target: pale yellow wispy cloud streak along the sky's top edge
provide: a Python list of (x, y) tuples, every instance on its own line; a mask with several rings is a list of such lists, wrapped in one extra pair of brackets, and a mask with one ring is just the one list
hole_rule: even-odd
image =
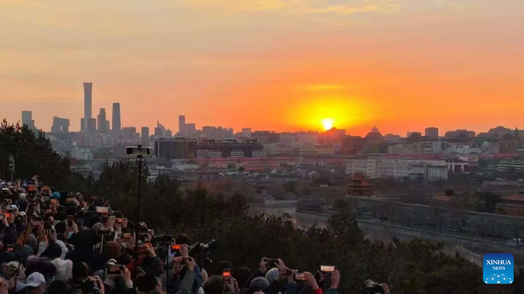
[(397, 0), (186, 0), (194, 9), (223, 11), (279, 11), (290, 14), (349, 15), (372, 11), (392, 11)]

